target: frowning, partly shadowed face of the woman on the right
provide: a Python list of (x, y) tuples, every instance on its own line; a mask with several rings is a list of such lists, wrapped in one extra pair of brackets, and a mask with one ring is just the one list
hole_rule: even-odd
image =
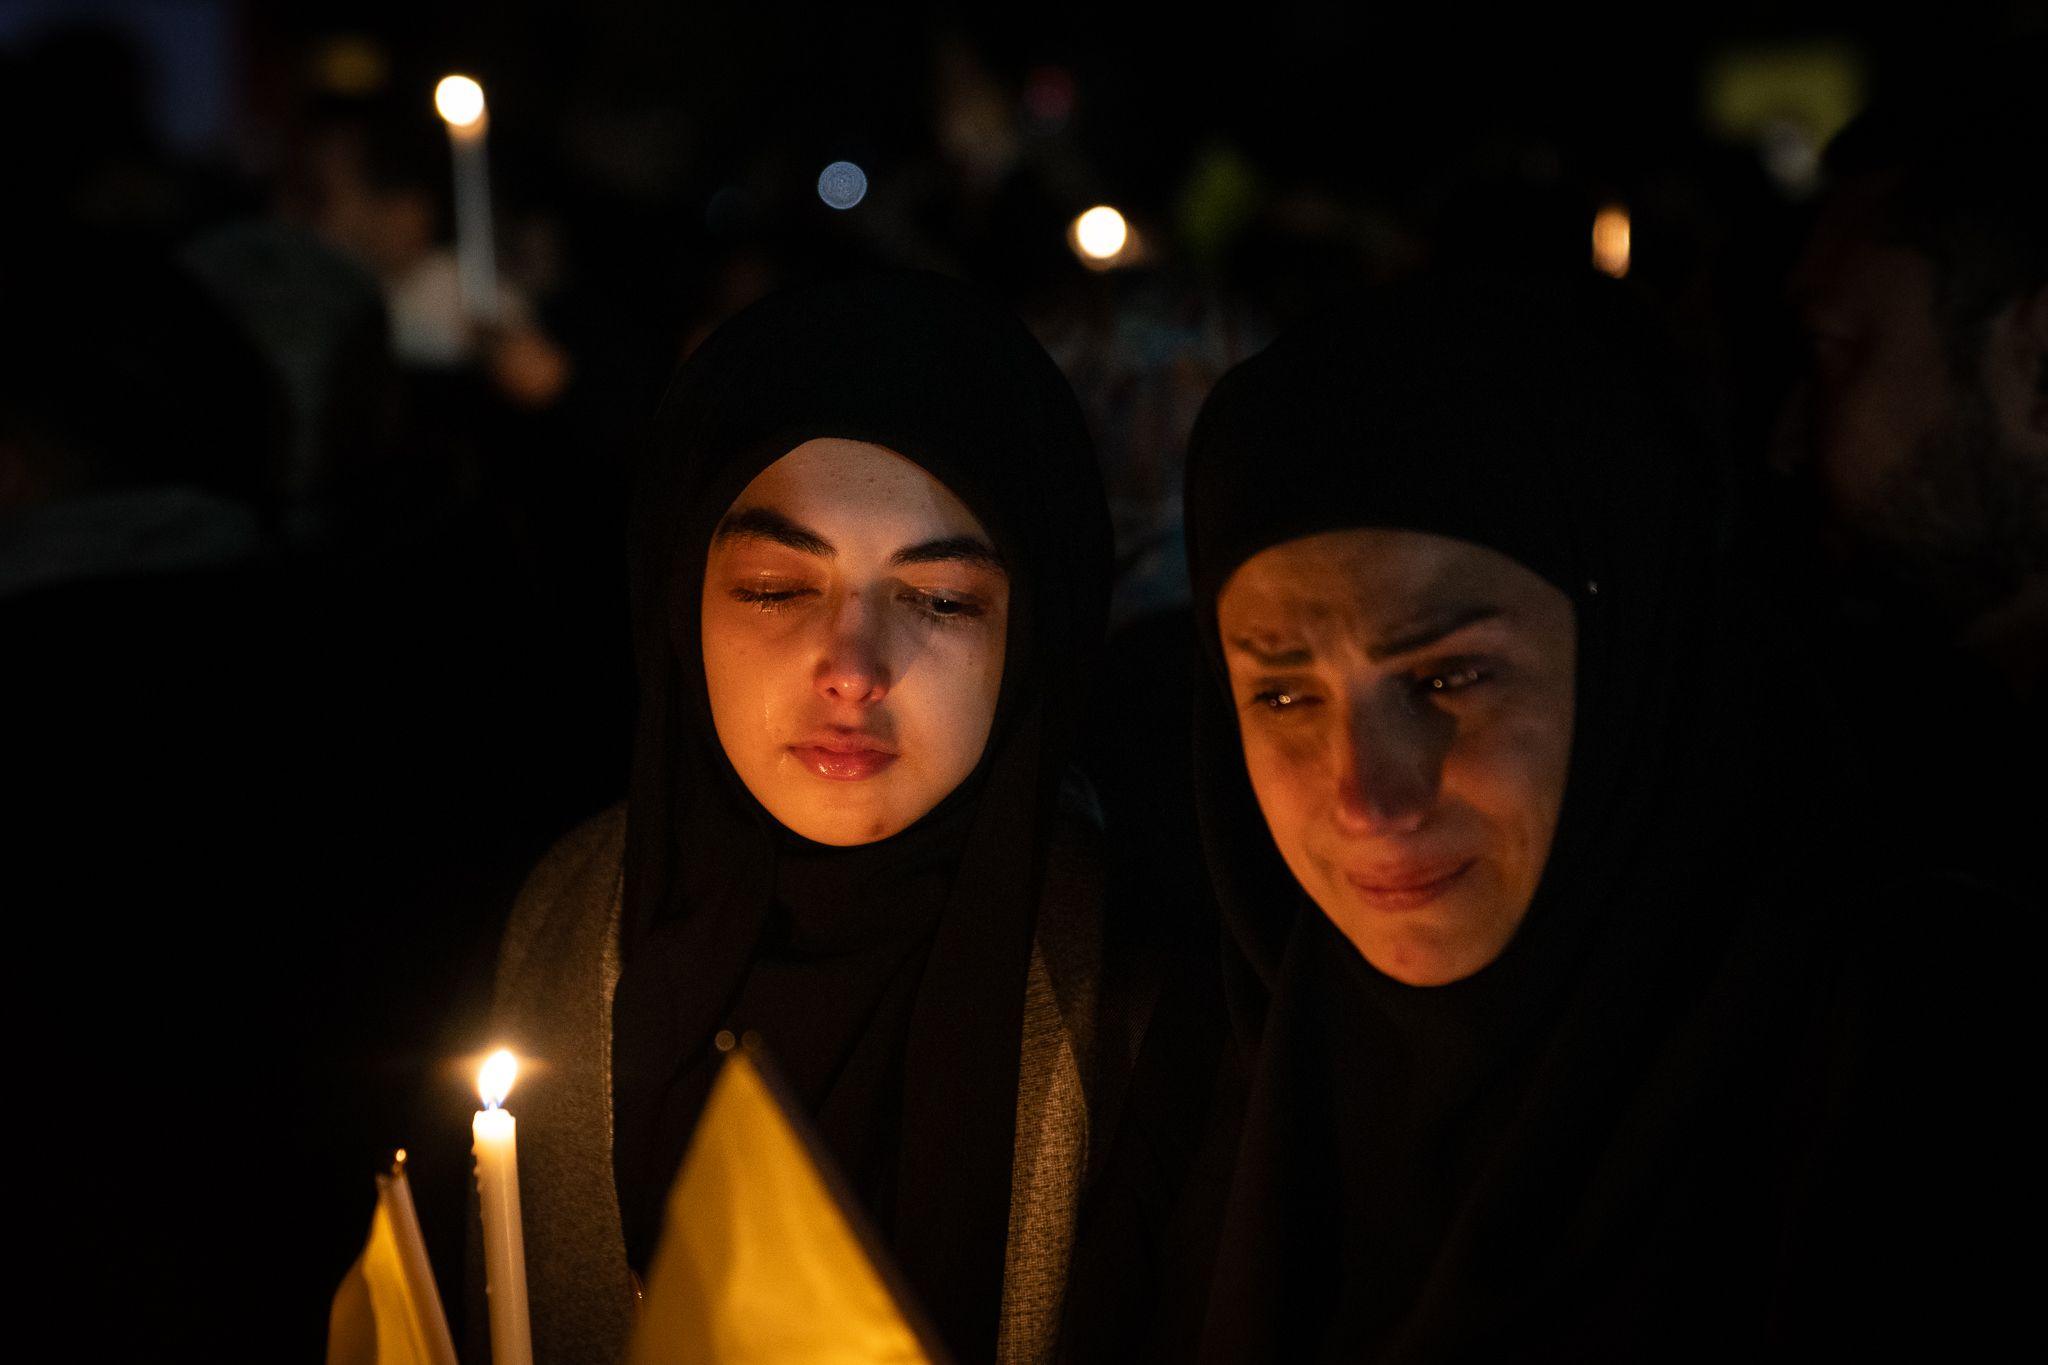
[(1339, 530), (1247, 559), (1217, 624), (1260, 810), (1331, 923), (1413, 986), (1499, 958), (1565, 800), (1571, 600), (1479, 544)]

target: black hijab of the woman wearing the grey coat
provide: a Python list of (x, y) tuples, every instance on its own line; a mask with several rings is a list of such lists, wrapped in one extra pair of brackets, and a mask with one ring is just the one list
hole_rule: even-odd
[[(887, 446), (981, 520), (1010, 573), (975, 772), (872, 845), (799, 839), (711, 724), (698, 593), (713, 530), (813, 438)], [(993, 1351), (1018, 1048), (1053, 802), (1108, 604), (1108, 512), (1079, 405), (973, 289), (885, 274), (786, 291), (676, 375), (631, 528), (639, 731), (612, 1007), (614, 1175), (645, 1265), (721, 1027), (756, 1029), (961, 1359)]]

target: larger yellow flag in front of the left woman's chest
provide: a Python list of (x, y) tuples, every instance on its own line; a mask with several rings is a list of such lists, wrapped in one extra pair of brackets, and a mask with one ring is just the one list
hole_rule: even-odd
[(633, 1365), (932, 1361), (748, 1052), (668, 1195)]

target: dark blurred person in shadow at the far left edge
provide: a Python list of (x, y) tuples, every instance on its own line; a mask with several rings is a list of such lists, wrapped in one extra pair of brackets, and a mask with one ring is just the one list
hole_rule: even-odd
[[(313, 1347), (340, 1222), (260, 1193), (330, 1136), (293, 1007), (319, 921), (279, 847), (305, 739), (260, 512), (285, 405), (160, 254), (31, 260), (0, 282), (0, 902), (10, 1031), (49, 1040), (16, 1066), (33, 1293), (115, 1355)], [(90, 1117), (109, 1097), (160, 1115), (141, 1148)]]

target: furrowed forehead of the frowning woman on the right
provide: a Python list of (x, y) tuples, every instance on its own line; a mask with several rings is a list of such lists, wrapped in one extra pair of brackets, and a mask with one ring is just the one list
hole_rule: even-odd
[(1268, 546), (1223, 585), (1225, 630), (1393, 626), (1497, 608), (1513, 622), (1563, 593), (1499, 551), (1423, 530), (1331, 530)]

